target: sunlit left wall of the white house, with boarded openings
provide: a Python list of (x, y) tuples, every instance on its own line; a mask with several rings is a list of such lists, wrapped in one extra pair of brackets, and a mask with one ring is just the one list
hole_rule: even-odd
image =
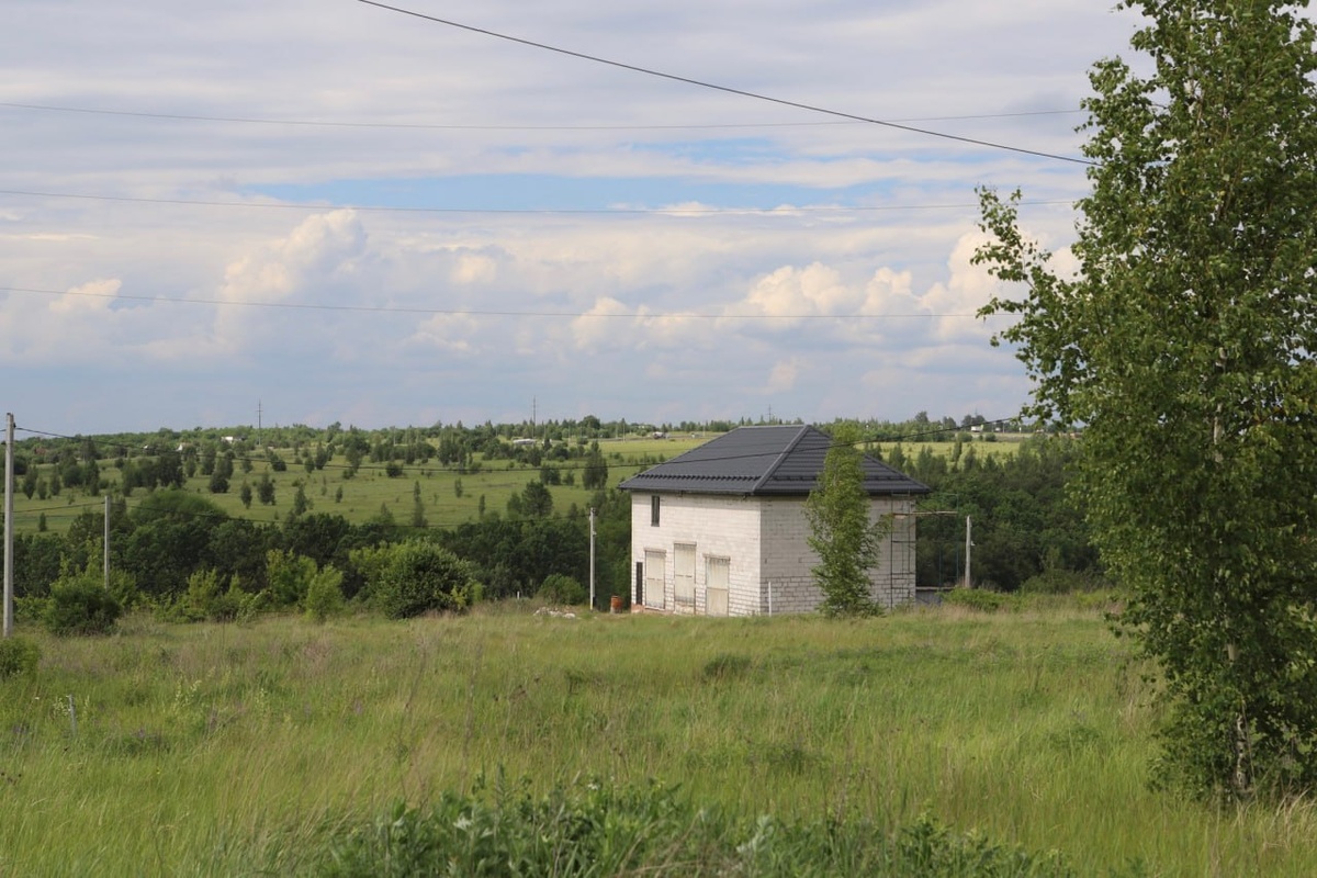
[[(631, 602), (636, 599), (635, 565), (644, 562), (645, 552), (665, 554), (662, 608), (669, 612), (705, 615), (705, 588), (710, 557), (727, 558), (728, 612), (748, 616), (759, 607), (759, 503), (749, 498), (660, 494), (658, 525), (651, 524), (653, 494), (633, 491), (631, 495)], [(695, 599), (678, 604), (674, 588), (674, 546), (695, 546)], [(651, 596), (652, 598), (652, 596)], [(651, 598), (644, 606), (653, 607)]]

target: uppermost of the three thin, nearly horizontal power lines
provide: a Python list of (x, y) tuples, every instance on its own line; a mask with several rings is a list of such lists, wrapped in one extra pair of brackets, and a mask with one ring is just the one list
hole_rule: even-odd
[[(99, 109), (91, 107), (59, 107), (54, 104), (18, 104), (13, 101), (0, 101), (0, 107), (11, 109), (34, 109), (50, 113), (84, 113), (95, 116), (125, 116), (130, 118), (159, 118), (186, 122), (234, 122), (241, 125), (290, 125), (304, 128), (382, 128), (395, 130), (458, 130), (458, 132), (662, 132), (662, 130), (741, 130), (760, 128), (823, 128), (835, 125), (865, 125), (860, 120), (846, 120), (832, 122), (720, 122), (720, 124), (685, 124), (685, 125), (457, 125), (436, 122), (360, 122), (360, 121), (327, 121), (312, 118), (255, 118), (249, 116), (196, 116), (190, 113), (151, 113), (132, 109)], [(1083, 109), (1035, 109), (1015, 113), (975, 113), (967, 116), (923, 116), (913, 118), (893, 118), (892, 122), (950, 122), (975, 121), (984, 118), (1023, 118), (1030, 116), (1071, 116), (1083, 113)]]

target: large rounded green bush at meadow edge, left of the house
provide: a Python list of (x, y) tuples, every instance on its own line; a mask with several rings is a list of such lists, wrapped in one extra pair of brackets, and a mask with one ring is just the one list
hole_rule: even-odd
[(433, 542), (408, 540), (367, 553), (362, 562), (370, 600), (390, 619), (460, 611), (479, 596), (474, 567)]

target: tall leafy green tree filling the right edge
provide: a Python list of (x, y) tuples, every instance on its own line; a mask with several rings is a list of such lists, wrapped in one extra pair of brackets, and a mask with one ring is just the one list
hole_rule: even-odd
[(1084, 429), (1075, 488), (1125, 631), (1162, 667), (1164, 782), (1317, 788), (1317, 28), (1304, 3), (1127, 4), (1147, 78), (1098, 63), (1092, 194), (1059, 276), (982, 194), (985, 313)]

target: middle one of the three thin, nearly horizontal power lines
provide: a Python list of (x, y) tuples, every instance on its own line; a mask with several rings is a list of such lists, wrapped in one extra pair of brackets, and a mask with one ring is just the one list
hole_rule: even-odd
[[(389, 207), (357, 204), (295, 204), (282, 201), (209, 201), (202, 199), (149, 199), (129, 195), (88, 195), (80, 192), (38, 192), (32, 190), (0, 190), (0, 195), (41, 199), (78, 199), (87, 201), (124, 201), (129, 204), (180, 204), (188, 207), (261, 208), (283, 211), (357, 211), (361, 213), (490, 213), (490, 215), (605, 215), (605, 216), (768, 216), (785, 217), (793, 213), (871, 213), (886, 211), (967, 211), (976, 203), (961, 204), (856, 204), (856, 205), (781, 205), (772, 208), (443, 208), (443, 207)], [(1073, 200), (1051, 199), (1019, 201), (1026, 205), (1073, 204)]]

